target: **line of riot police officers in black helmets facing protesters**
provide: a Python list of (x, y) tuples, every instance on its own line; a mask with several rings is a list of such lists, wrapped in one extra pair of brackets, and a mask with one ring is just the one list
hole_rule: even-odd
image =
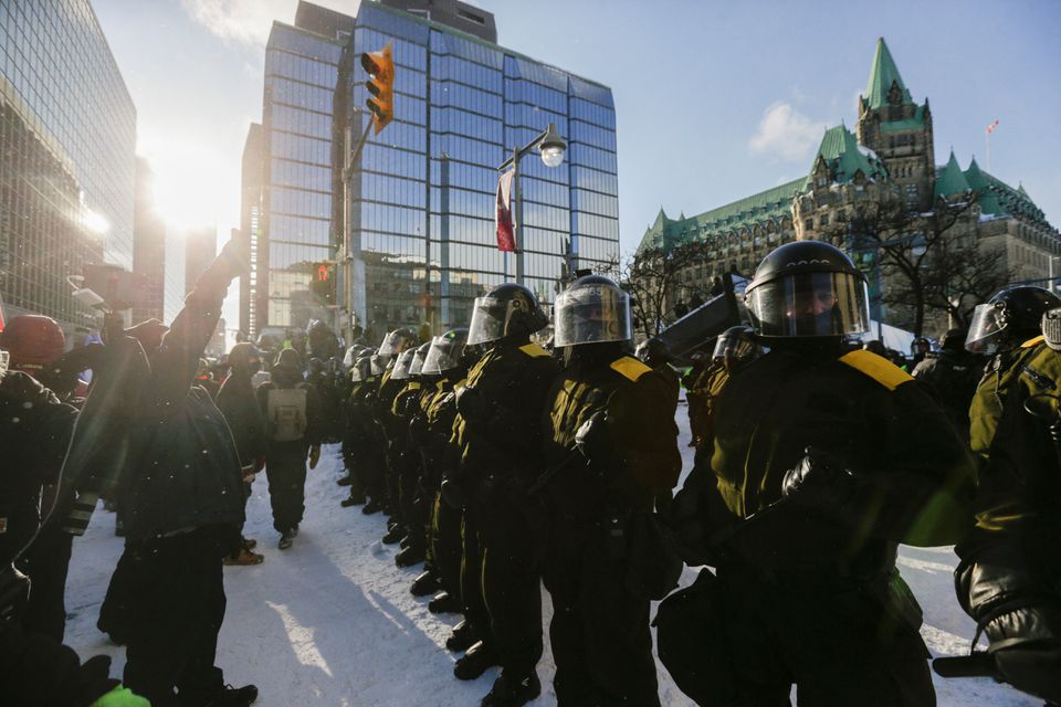
[(650, 601), (684, 560), (714, 571), (653, 623), (697, 704), (788, 705), (795, 684), (801, 705), (933, 705), (896, 550), (959, 544), (987, 672), (1061, 698), (1061, 354), (1036, 338), (1061, 300), (1019, 287), (978, 307), (969, 346), (998, 355), (971, 450), (929, 387), (850, 345), (868, 296), (838, 249), (780, 246), (745, 302), (753, 326), (723, 337), (690, 397), (696, 460), (673, 503), (677, 379), (629, 355), (629, 298), (606, 277), (557, 298), (556, 356), (514, 284), (477, 298), (468, 330), (355, 350), (344, 505), (386, 510), (397, 562), (426, 560), (413, 593), (464, 614), (456, 677), (501, 665), (486, 706), (540, 693), (544, 582), (558, 703), (659, 705)]

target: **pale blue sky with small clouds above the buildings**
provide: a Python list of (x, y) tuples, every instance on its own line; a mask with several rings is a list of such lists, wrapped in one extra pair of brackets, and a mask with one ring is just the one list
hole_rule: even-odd
[[(139, 113), (170, 218), (237, 225), (264, 40), (296, 0), (93, 0)], [(356, 12), (355, 0), (321, 4)], [(878, 36), (931, 101), (936, 162), (976, 155), (1061, 224), (1061, 2), (477, 0), (500, 43), (616, 96), (622, 251), (662, 205), (698, 213), (807, 172), (855, 120)]]

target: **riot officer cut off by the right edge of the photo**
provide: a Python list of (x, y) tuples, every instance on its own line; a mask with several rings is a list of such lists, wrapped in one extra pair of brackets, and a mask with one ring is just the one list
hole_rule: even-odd
[(1020, 286), (974, 312), (966, 347), (994, 358), (969, 409), (977, 523), (955, 570), (996, 677), (1052, 704), (1061, 703), (1061, 340), (1044, 342), (1038, 325), (1059, 306), (1053, 293)]

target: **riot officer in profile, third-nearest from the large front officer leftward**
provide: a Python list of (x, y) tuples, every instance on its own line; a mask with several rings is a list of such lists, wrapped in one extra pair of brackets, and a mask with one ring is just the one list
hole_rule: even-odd
[[(456, 398), (453, 430), (462, 457), (454, 481), (466, 497), (461, 594), (465, 620), (481, 642), (458, 661), (454, 674), (471, 679), (500, 663), (501, 677), (483, 699), (495, 707), (523, 705), (540, 692), (538, 534), (527, 489), (540, 472), (540, 414), (556, 374), (556, 363), (530, 336), (547, 324), (523, 285), (506, 283), (477, 297), (468, 344), (485, 352)], [(486, 616), (470, 581), (476, 574)]]

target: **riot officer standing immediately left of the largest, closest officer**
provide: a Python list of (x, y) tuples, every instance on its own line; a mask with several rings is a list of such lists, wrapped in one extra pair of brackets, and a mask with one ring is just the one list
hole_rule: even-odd
[(607, 277), (576, 279), (555, 317), (567, 366), (549, 391), (538, 485), (557, 703), (658, 707), (649, 605), (661, 594), (641, 550), (681, 471), (677, 380), (628, 356), (630, 298)]

